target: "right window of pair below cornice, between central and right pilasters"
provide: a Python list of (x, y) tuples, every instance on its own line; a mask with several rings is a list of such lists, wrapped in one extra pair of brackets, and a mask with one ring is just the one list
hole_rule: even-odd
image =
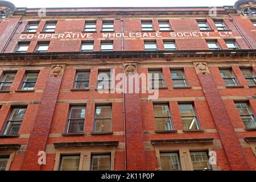
[(171, 69), (171, 76), (174, 87), (188, 86), (183, 69)]

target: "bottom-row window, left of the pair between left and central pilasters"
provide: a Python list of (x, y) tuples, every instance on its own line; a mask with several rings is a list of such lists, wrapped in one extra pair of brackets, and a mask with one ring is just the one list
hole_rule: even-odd
[(80, 155), (61, 155), (60, 171), (79, 171)]

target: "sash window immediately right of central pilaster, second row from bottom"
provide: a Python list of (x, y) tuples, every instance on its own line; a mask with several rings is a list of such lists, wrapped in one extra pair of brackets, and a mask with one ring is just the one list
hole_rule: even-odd
[(173, 130), (168, 104), (154, 104), (155, 125), (158, 131)]

